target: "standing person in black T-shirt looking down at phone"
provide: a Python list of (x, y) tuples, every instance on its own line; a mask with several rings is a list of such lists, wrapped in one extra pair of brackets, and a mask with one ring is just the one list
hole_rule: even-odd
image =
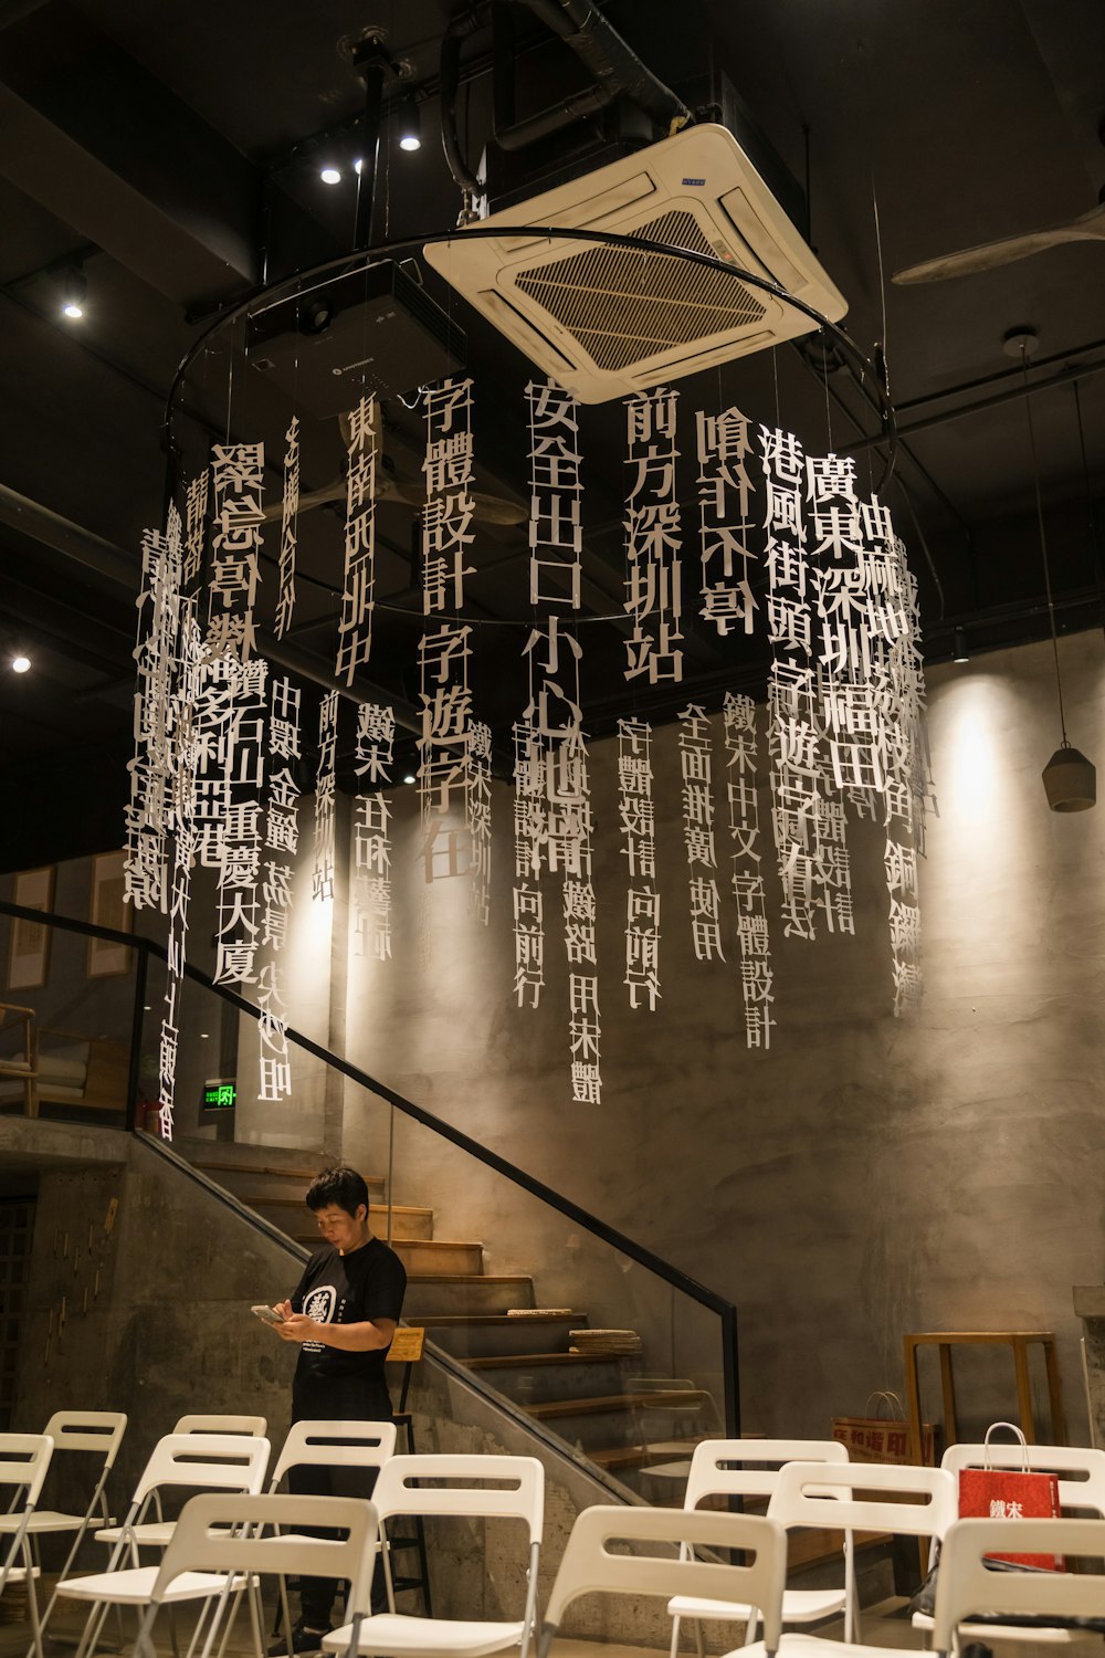
[[(273, 1325), (283, 1341), (300, 1346), (292, 1421), (389, 1423), (384, 1360), (403, 1313), (406, 1270), (394, 1250), (373, 1237), (368, 1185), (355, 1169), (325, 1169), (306, 1190), (306, 1207), (326, 1242), (308, 1260), (290, 1298), (277, 1303), (283, 1321)], [(355, 1476), (351, 1484), (350, 1476)], [(373, 1484), (374, 1474), (359, 1469), (290, 1471), (292, 1489), (315, 1496), (369, 1497)], [(373, 1610), (386, 1610), (378, 1607), (379, 1590), (373, 1582)], [(300, 1580), (293, 1655), (320, 1651), (333, 1597), (333, 1578)], [(287, 1653), (287, 1640), (277, 1641), (272, 1658)]]

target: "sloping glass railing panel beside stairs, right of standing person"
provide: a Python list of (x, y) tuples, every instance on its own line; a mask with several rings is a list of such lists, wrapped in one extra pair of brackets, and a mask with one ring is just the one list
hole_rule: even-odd
[(343, 1144), (391, 1169), (408, 1321), (570, 1452), (681, 1502), (694, 1444), (726, 1433), (719, 1313), (353, 1084)]

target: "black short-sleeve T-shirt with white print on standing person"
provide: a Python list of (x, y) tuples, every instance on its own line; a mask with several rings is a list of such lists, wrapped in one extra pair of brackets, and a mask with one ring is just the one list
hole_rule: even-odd
[[(306, 1313), (320, 1325), (359, 1325), (403, 1313), (406, 1268), (383, 1239), (369, 1239), (361, 1248), (341, 1255), (331, 1244), (315, 1250), (303, 1277), (292, 1293), (292, 1310)], [(388, 1348), (369, 1353), (346, 1353), (305, 1341), (295, 1366), (295, 1388), (313, 1381), (364, 1381), (383, 1384)]]

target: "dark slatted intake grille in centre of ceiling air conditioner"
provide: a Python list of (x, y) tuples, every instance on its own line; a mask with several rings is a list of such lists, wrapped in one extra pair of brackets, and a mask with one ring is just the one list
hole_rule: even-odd
[[(694, 214), (681, 209), (636, 225), (635, 234), (714, 254)], [(747, 328), (764, 317), (764, 305), (737, 277), (628, 247), (588, 247), (533, 265), (515, 280), (603, 370)]]

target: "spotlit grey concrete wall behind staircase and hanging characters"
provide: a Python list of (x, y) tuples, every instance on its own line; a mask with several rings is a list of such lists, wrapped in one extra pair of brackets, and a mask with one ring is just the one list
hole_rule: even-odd
[[(1102, 759), (1100, 637), (1060, 652), (1070, 736)], [(856, 937), (807, 945), (775, 928), (774, 1048), (746, 1050), (732, 962), (701, 965), (689, 948), (678, 754), (663, 731), (656, 1015), (623, 1005), (623, 861), (608, 834), (596, 849), (603, 1104), (570, 1101), (555, 915), (545, 1001), (537, 1013), (514, 1005), (502, 789), (490, 928), (472, 924), (459, 889), (436, 889), (422, 967), (416, 801), (398, 793), (394, 960), (353, 958), (348, 1051), (729, 1295), (749, 1429), (820, 1436), (873, 1388), (901, 1391), (905, 1331), (1042, 1328), (1059, 1335), (1082, 1437), (1070, 1287), (1100, 1280), (1105, 1253), (1105, 819), (1102, 807), (1064, 817), (1045, 806), (1039, 773), (1059, 741), (1050, 647), (936, 668), (929, 686), (941, 816), (923, 867), (918, 1016), (891, 1015), (881, 834), (858, 826)], [(615, 821), (611, 763), (611, 744), (595, 744), (600, 826)], [(386, 1147), (386, 1114), (351, 1094), (346, 1156), (378, 1169)], [(494, 1270), (537, 1267), (538, 1302), (586, 1303), (586, 1239), (537, 1220), (424, 1131), (396, 1132), (396, 1199), (432, 1202), (442, 1235), (485, 1237)], [(625, 1305), (636, 1316), (653, 1300), (643, 1290)], [(961, 1428), (1009, 1414), (1004, 1353), (967, 1353), (958, 1371)], [(934, 1378), (926, 1393), (936, 1408)]]

